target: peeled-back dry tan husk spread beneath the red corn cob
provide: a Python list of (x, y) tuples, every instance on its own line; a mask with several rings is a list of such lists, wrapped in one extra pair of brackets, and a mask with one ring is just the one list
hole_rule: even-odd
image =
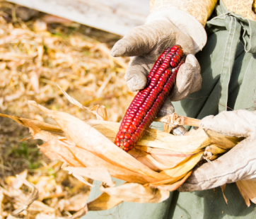
[[(83, 107), (69, 95), (66, 96), (75, 105)], [(4, 114), (0, 116), (27, 126), (32, 138), (45, 141), (40, 146), (42, 153), (52, 160), (62, 160), (66, 164), (64, 170), (78, 179), (88, 177), (105, 183), (101, 187), (103, 194), (87, 206), (85, 204), (72, 218), (80, 217), (87, 211), (112, 208), (122, 201), (161, 202), (168, 198), (169, 191), (185, 182), (193, 167), (203, 157), (206, 158), (206, 153), (213, 160), (243, 139), (200, 128), (186, 136), (173, 136), (156, 129), (147, 129), (136, 148), (126, 153), (113, 143), (120, 124), (104, 121), (107, 119), (104, 107), (85, 108), (93, 110), (95, 114), (98, 114), (98, 109), (103, 110), (100, 110), (100, 120), (83, 122), (70, 114), (52, 111), (33, 101), (30, 101), (30, 105), (52, 117), (58, 126)], [(184, 121), (191, 123), (195, 120), (188, 118), (180, 121), (184, 124)], [(123, 179), (126, 183), (115, 187), (111, 177)], [(84, 183), (90, 185), (89, 182)], [(242, 191), (244, 186), (239, 185)], [(246, 199), (254, 197), (246, 196)]]

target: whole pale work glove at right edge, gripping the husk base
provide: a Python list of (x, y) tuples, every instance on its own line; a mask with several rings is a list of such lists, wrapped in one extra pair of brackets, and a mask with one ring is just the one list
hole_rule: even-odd
[(215, 117), (205, 117), (200, 126), (245, 139), (220, 158), (194, 170), (179, 191), (211, 189), (240, 179), (256, 177), (256, 111), (221, 112)]

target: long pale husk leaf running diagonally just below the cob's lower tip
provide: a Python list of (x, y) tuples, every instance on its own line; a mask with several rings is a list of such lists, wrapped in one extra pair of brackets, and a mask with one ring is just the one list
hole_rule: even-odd
[(59, 127), (64, 131), (66, 137), (71, 139), (80, 148), (85, 148), (91, 153), (98, 155), (112, 165), (119, 165), (134, 172), (153, 177), (156, 179), (166, 179), (167, 176), (154, 172), (146, 165), (141, 164), (124, 150), (115, 146), (112, 141), (103, 136), (96, 129), (92, 129), (86, 122), (71, 116), (65, 112), (54, 112), (50, 109), (37, 105), (30, 101), (30, 105), (40, 108), (48, 116), (52, 117)]

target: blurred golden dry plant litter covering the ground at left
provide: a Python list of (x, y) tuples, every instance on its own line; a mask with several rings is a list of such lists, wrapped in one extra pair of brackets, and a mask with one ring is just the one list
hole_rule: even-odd
[[(53, 124), (30, 109), (27, 100), (35, 100), (83, 120), (94, 118), (71, 105), (58, 84), (86, 107), (105, 105), (109, 121), (120, 121), (134, 93), (123, 78), (128, 60), (110, 57), (110, 48), (119, 39), (118, 35), (0, 1), (0, 112)], [(42, 206), (28, 208), (20, 217), (76, 211), (70, 207), (71, 197), (80, 200), (79, 194), (86, 194), (88, 188), (66, 172), (58, 172), (61, 164), (50, 162), (37, 149), (42, 141), (21, 142), (26, 136), (27, 129), (0, 118), (1, 187), (15, 190), (13, 176), (28, 170), (28, 181), (39, 184), (46, 193), (39, 200)], [(25, 196), (27, 190), (22, 186), (16, 192)], [(6, 218), (18, 208), (18, 201), (6, 194), (1, 199), (1, 194), (0, 190), (0, 218)]]

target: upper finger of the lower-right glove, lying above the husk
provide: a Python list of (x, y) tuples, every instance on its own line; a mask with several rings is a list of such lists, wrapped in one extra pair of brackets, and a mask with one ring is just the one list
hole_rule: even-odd
[(199, 126), (204, 129), (235, 137), (253, 137), (255, 135), (256, 111), (224, 111), (220, 114), (204, 117)]

